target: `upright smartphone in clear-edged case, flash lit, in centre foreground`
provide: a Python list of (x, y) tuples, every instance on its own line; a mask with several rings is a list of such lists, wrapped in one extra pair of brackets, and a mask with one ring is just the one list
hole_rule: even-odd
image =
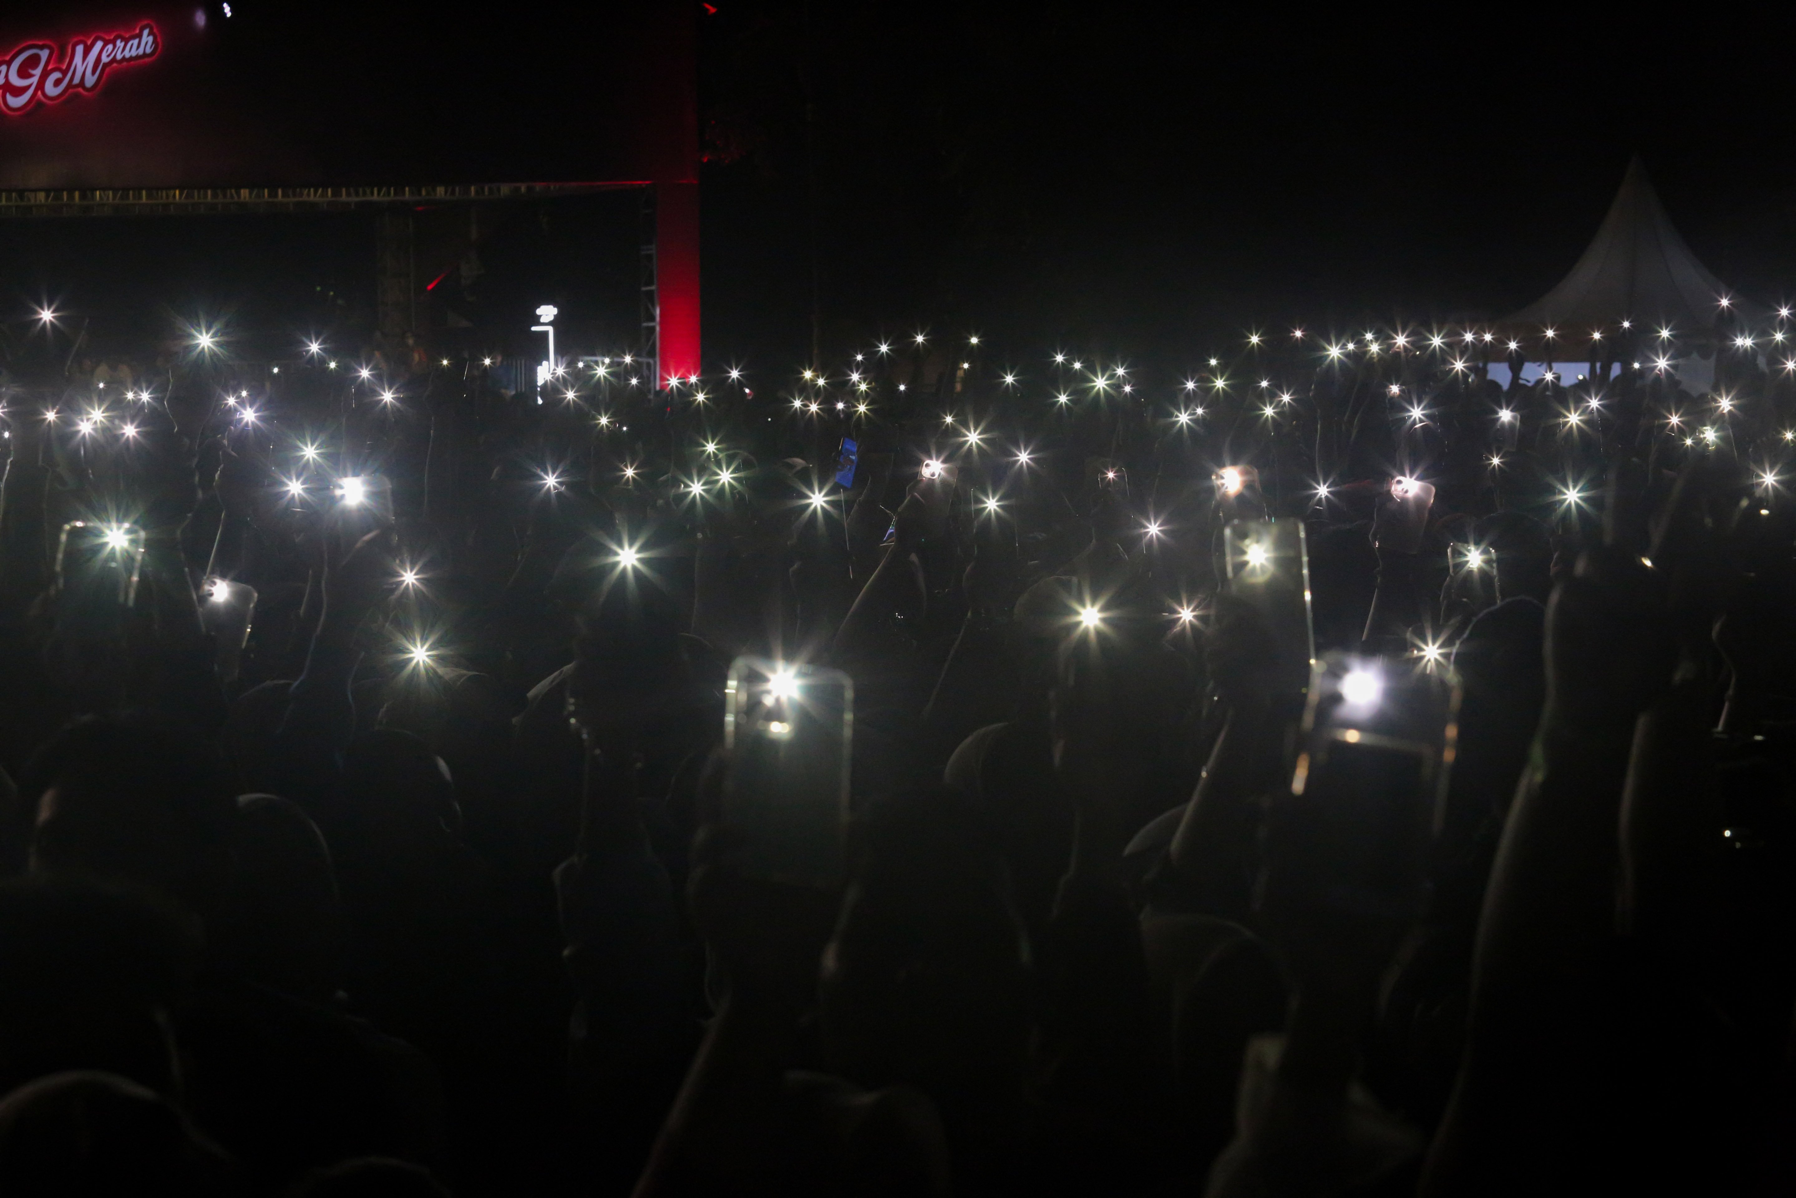
[(830, 887), (846, 871), (855, 684), (841, 670), (736, 657), (724, 684), (724, 821), (745, 876)]

